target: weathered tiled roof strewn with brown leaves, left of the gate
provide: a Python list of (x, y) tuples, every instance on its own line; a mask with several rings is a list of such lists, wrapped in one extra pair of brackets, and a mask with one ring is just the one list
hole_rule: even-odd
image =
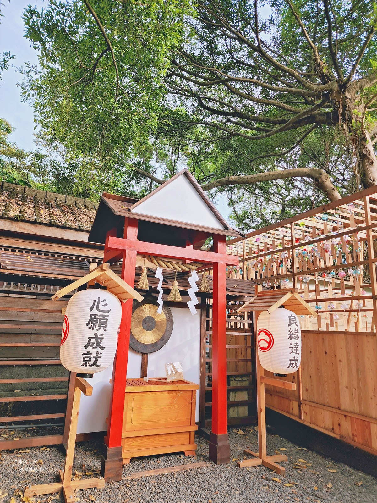
[(55, 227), (90, 230), (98, 203), (3, 182), (0, 218), (37, 222)]

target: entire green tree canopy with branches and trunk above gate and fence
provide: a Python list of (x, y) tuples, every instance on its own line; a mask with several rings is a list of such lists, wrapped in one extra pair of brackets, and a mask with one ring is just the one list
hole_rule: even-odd
[(77, 194), (187, 165), (251, 226), (377, 184), (373, 2), (48, 0), (24, 21), (24, 96)]

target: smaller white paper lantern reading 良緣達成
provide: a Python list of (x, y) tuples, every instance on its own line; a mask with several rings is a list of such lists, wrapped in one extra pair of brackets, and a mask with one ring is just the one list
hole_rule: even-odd
[(260, 313), (257, 322), (261, 366), (275, 374), (293, 374), (301, 363), (301, 328), (295, 313), (279, 307)]

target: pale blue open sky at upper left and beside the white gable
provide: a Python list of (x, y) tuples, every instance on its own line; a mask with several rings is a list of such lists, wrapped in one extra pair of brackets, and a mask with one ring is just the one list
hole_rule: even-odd
[[(35, 149), (33, 109), (27, 103), (21, 101), (20, 88), (17, 82), (22, 79), (22, 75), (17, 70), (23, 66), (25, 61), (34, 64), (37, 62), (37, 54), (30, 46), (30, 42), (24, 37), (25, 27), (21, 19), (22, 12), (29, 5), (43, 7), (47, 2), (43, 0), (0, 0), (4, 3), (0, 24), (0, 53), (11, 51), (16, 58), (11, 62), (8, 71), (3, 72), (3, 80), (0, 80), (0, 117), (3, 117), (12, 124), (15, 131), (10, 139), (24, 150)], [(220, 213), (227, 218), (230, 210), (225, 197), (217, 197), (214, 201)]]

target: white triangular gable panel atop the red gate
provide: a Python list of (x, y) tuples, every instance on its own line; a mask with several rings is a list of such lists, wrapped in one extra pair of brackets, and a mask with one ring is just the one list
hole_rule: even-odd
[(184, 175), (162, 186), (132, 212), (213, 229), (225, 228)]

